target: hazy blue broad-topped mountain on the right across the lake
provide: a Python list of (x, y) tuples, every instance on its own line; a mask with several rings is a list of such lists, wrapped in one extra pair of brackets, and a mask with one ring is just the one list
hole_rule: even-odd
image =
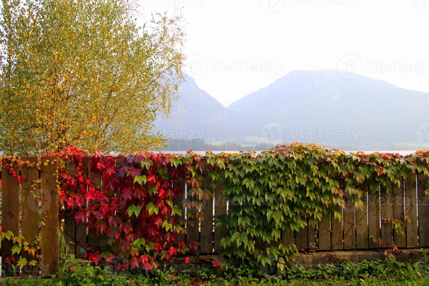
[[(230, 122), (241, 127), (238, 136), (258, 136), (264, 124), (275, 121), (284, 128), (284, 141), (383, 147), (415, 141), (415, 129), (429, 120), (428, 108), (428, 93), (364, 76), (347, 80), (337, 71), (320, 70), (290, 72), (227, 110)], [(294, 135), (311, 130), (337, 131), (338, 136)], [(358, 134), (357, 141), (345, 138), (347, 131)]]

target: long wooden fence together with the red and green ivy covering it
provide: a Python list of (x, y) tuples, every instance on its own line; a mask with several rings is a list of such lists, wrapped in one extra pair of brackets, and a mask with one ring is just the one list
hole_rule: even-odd
[[(429, 246), (427, 150), (345, 154), (294, 143), (262, 153), (112, 156), (69, 147), (48, 156), (2, 158), (5, 264), (54, 261), (43, 254), (43, 232), (57, 235), (55, 227), (47, 230), (52, 214), (59, 215), (68, 253), (96, 265), (115, 261), (122, 271), (205, 259), (201, 253), (217, 253), (214, 266), (275, 263), (282, 269), (301, 249), (384, 247), (398, 253), (400, 247)], [(39, 169), (40, 177), (30, 172), (30, 178), (29, 168)], [(57, 178), (52, 196), (59, 204), (42, 202), (42, 210), (31, 210), (21, 199), (22, 218), (24, 208), (41, 212), (42, 236), (20, 235), (19, 221), (18, 230), (5, 221), (13, 195), (5, 198), (5, 182), (15, 180), (21, 197), (37, 201), (48, 175)], [(18, 208), (12, 205), (8, 214)]]

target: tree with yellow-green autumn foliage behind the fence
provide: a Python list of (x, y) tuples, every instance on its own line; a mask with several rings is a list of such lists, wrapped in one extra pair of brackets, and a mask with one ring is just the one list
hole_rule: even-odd
[(6, 0), (0, 22), (0, 148), (130, 152), (183, 80), (181, 16), (137, 27), (126, 0)]

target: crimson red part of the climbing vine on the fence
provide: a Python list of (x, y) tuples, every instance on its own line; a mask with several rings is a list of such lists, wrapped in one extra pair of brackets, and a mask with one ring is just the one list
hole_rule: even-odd
[[(89, 247), (85, 258), (97, 265), (119, 255), (125, 263), (117, 268), (148, 271), (159, 260), (197, 248), (195, 241), (186, 245), (176, 240), (176, 235), (185, 233), (185, 221), (182, 202), (173, 201), (184, 194), (180, 181), (194, 188), (195, 208), (199, 208), (201, 195), (211, 195), (200, 190), (198, 180), (190, 175), (190, 166), (200, 160), (199, 155), (142, 152), (114, 157), (67, 148), (61, 158), (59, 200), (64, 209), (60, 217), (85, 223), (89, 233), (111, 247), (103, 253)], [(117, 164), (121, 158), (123, 164)], [(65, 166), (75, 169), (70, 174)], [(96, 174), (101, 174), (102, 184), (94, 181)]]

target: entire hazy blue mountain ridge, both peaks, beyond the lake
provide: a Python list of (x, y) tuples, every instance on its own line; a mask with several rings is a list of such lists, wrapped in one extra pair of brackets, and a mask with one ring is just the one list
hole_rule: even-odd
[(284, 142), (387, 148), (416, 145), (428, 108), (429, 93), (362, 75), (345, 79), (336, 70), (290, 72), (226, 108), (190, 78), (171, 120), (157, 120), (154, 129), (199, 130), (207, 142), (246, 143), (271, 140), (264, 134), (274, 126)]

